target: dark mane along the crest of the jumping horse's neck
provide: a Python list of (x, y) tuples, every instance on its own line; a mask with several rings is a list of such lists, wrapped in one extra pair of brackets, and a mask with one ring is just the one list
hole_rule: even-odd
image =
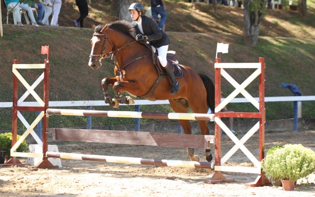
[[(95, 27), (94, 32), (95, 33), (100, 33), (102, 28), (105, 26), (106, 24), (102, 24), (102, 25), (98, 25)], [(131, 25), (131, 23), (129, 23), (128, 21), (122, 20), (122, 21), (114, 21), (112, 23), (109, 23), (107, 25), (108, 28), (112, 29), (112, 30), (117, 30), (120, 31), (122, 33), (126, 33), (131, 35), (132, 37), (134, 36), (135, 33), (135, 29), (133, 28), (133, 26)]]

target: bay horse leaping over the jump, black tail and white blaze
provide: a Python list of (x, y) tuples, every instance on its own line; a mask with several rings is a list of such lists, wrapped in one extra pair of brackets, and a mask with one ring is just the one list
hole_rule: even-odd
[[(171, 95), (170, 82), (168, 78), (160, 77), (151, 47), (134, 38), (135, 30), (131, 23), (115, 21), (97, 27), (92, 24), (92, 28), (94, 33), (89, 66), (98, 69), (104, 58), (114, 57), (115, 77), (101, 81), (105, 102), (111, 107), (118, 107), (119, 103), (134, 103), (131, 97), (122, 94), (127, 92), (135, 98), (169, 100), (176, 113), (188, 113), (190, 108), (194, 113), (206, 114), (208, 106), (214, 111), (215, 86), (212, 80), (207, 75), (197, 74), (188, 66), (179, 65), (182, 71), (182, 77), (177, 78), (181, 84), (180, 92)], [(113, 88), (117, 99), (110, 97), (108, 86)], [(208, 135), (207, 121), (198, 122), (201, 134)], [(185, 134), (191, 134), (189, 120), (179, 120), (179, 123)], [(191, 161), (199, 161), (193, 148), (188, 148), (187, 152)], [(210, 149), (206, 149), (205, 157), (211, 162)]]

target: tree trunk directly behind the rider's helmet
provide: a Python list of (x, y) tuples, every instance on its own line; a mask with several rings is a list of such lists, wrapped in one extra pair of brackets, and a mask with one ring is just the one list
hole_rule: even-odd
[(127, 10), (129, 5), (134, 0), (112, 0), (111, 9), (117, 13), (119, 20), (126, 20), (132, 22), (129, 11)]

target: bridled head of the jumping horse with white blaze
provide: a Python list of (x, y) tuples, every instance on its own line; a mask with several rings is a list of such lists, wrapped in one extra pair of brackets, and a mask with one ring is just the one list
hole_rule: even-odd
[(92, 50), (89, 66), (93, 69), (98, 69), (100, 66), (102, 66), (103, 59), (111, 54), (113, 50), (113, 44), (106, 35), (107, 24), (98, 25), (97, 27), (92, 24), (92, 28), (94, 29), (94, 33), (91, 39)]

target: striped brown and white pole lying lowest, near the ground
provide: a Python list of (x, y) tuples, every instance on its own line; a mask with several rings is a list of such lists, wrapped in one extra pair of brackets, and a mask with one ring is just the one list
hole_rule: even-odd
[(68, 159), (68, 160), (85, 160), (95, 162), (107, 163), (121, 163), (121, 164), (141, 164), (141, 165), (162, 165), (172, 167), (190, 167), (190, 168), (209, 168), (214, 166), (213, 162), (193, 162), (193, 161), (180, 161), (180, 160), (156, 160), (145, 158), (132, 158), (132, 157), (116, 157), (116, 156), (102, 156), (102, 155), (85, 155), (76, 153), (59, 153), (59, 152), (46, 152), (47, 157)]

